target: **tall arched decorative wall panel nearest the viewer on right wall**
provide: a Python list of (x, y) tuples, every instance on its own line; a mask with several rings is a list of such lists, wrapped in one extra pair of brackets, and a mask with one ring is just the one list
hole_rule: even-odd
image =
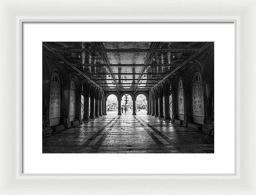
[(192, 77), (192, 112), (193, 122), (204, 124), (204, 91), (199, 70)]

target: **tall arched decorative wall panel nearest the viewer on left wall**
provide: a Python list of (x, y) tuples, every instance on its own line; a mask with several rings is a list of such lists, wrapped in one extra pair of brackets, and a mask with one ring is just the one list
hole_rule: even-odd
[(61, 119), (61, 79), (56, 71), (51, 77), (49, 104), (50, 126), (58, 125)]

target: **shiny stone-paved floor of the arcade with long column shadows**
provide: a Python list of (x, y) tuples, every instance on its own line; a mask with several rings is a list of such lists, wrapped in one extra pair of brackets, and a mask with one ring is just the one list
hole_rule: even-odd
[(43, 137), (43, 153), (214, 153), (214, 140), (143, 113), (109, 112)]

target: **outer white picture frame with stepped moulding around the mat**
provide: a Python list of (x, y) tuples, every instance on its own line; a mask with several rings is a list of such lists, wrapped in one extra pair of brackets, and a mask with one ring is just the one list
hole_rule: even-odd
[[(0, 194), (256, 195), (255, 0), (2, 0), (0, 10)], [(24, 22), (234, 22), (236, 174), (22, 174)]]

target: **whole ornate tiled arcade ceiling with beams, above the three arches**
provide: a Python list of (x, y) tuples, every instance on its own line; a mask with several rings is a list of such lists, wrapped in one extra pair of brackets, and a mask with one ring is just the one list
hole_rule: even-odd
[(149, 90), (209, 42), (43, 42), (106, 91)]

